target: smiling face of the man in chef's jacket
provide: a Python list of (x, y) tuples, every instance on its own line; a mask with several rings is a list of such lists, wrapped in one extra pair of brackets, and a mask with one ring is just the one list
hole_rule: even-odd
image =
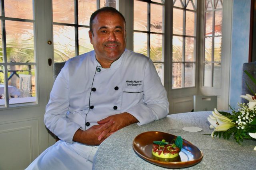
[(117, 60), (126, 47), (125, 23), (121, 16), (101, 12), (94, 18), (92, 30), (93, 34), (89, 31), (90, 42), (100, 64)]

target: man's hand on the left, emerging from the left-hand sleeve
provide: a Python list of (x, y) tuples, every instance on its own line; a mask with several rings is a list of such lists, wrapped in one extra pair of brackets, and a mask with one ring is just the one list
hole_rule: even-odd
[(100, 143), (102, 143), (107, 137), (111, 135), (110, 127), (114, 124), (115, 121), (108, 121), (104, 124), (94, 125), (86, 131), (78, 129), (74, 134), (73, 141), (86, 145), (100, 145)]

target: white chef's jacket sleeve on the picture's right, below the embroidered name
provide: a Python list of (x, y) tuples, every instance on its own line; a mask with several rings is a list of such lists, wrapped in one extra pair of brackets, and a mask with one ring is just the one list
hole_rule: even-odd
[(169, 113), (167, 93), (151, 59), (145, 67), (142, 101), (126, 111), (138, 119), (138, 125), (162, 119)]

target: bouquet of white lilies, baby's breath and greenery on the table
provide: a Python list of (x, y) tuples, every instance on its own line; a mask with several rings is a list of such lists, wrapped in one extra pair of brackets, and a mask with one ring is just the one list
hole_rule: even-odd
[[(245, 72), (256, 84), (256, 80), (247, 71)], [(248, 100), (249, 103), (238, 103), (240, 107), (238, 111), (232, 109), (232, 113), (229, 113), (214, 109), (212, 115), (209, 115), (207, 119), (211, 124), (210, 128), (214, 129), (211, 134), (212, 138), (222, 136), (228, 140), (233, 135), (240, 145), (244, 139), (256, 139), (256, 94), (255, 96), (246, 94), (240, 97)]]

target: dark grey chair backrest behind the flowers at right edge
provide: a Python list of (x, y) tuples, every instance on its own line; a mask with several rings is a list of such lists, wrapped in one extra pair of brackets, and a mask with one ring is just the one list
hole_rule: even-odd
[[(244, 63), (243, 64), (243, 73), (242, 73), (242, 94), (241, 95), (246, 95), (246, 94), (254, 95), (256, 93), (256, 85), (247, 76), (247, 74), (245, 74), (245, 72), (244, 72), (245, 70), (248, 71), (256, 79), (256, 62)], [(252, 94), (250, 92), (250, 90), (246, 86), (246, 83), (248, 84), (250, 89), (254, 92), (254, 94)], [(241, 100), (242, 100), (241, 101), (242, 103), (248, 103), (249, 102), (248, 100), (246, 100), (244, 98), (242, 98)]]

